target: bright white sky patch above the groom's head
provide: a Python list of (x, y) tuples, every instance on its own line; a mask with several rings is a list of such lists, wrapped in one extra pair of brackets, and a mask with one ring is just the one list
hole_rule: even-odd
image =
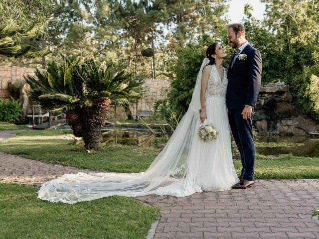
[(262, 20), (264, 18), (266, 3), (260, 0), (230, 0), (228, 16), (230, 17), (229, 23), (241, 22), (244, 17), (244, 6), (248, 3), (253, 6), (253, 17)]

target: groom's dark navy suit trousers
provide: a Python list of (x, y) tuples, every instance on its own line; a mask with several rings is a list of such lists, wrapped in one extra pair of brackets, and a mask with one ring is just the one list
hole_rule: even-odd
[(254, 180), (255, 144), (253, 137), (253, 119), (243, 119), (242, 110), (228, 109), (229, 125), (240, 152), (244, 179)]

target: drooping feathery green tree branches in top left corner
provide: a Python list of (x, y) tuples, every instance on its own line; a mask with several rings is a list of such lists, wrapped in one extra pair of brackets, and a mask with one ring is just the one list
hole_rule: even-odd
[(0, 54), (19, 58), (48, 54), (48, 47), (34, 47), (28, 39), (45, 35), (53, 8), (53, 0), (1, 0)]

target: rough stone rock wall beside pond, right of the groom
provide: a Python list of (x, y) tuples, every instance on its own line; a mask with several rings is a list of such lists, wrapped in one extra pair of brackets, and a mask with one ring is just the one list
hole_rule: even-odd
[(316, 135), (319, 125), (292, 104), (289, 85), (284, 82), (261, 86), (253, 124), (258, 133)]

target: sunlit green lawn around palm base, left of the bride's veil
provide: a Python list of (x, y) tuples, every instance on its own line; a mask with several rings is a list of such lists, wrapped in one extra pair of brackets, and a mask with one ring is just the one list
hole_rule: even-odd
[(38, 161), (88, 168), (97, 171), (141, 172), (152, 163), (158, 152), (120, 144), (108, 144), (104, 151), (87, 153), (83, 145), (66, 140), (72, 131), (28, 130), (0, 143), (0, 151)]

